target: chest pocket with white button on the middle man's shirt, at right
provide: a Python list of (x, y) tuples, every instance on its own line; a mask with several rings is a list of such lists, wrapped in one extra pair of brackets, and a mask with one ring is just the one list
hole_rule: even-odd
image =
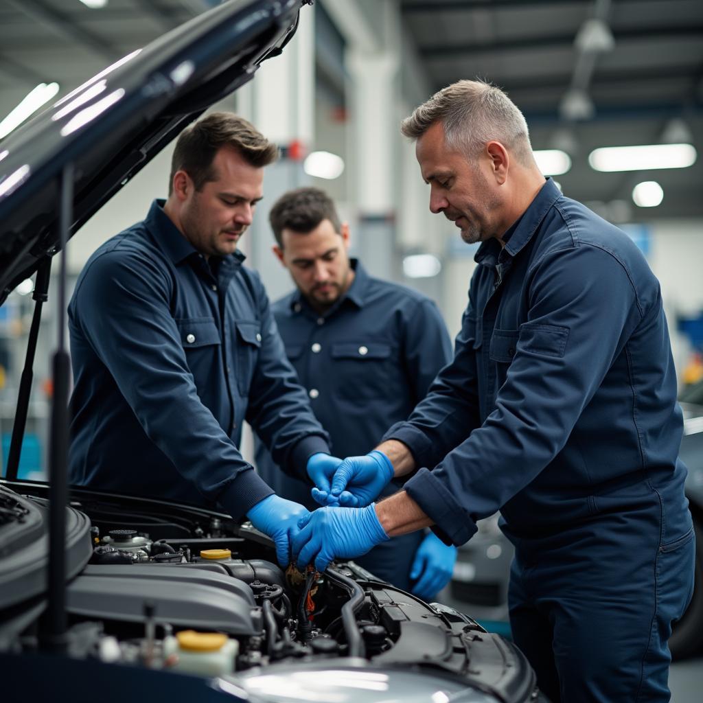
[(349, 400), (370, 400), (388, 394), (394, 353), (382, 342), (335, 342), (332, 345), (332, 383), (337, 395)]

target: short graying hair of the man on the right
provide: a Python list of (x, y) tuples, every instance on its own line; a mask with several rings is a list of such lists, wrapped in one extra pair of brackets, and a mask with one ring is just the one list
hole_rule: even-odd
[(446, 86), (401, 122), (410, 138), (423, 136), (435, 122), (444, 127), (446, 146), (475, 157), (492, 140), (501, 142), (524, 166), (534, 163), (522, 112), (496, 86), (462, 80)]

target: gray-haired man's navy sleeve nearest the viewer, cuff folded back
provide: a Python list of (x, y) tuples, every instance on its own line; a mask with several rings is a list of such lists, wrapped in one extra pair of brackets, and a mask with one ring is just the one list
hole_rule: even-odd
[(520, 327), (496, 408), (483, 425), (406, 490), (455, 544), (501, 508), (565, 446), (583, 408), (646, 311), (610, 252), (581, 245), (530, 271)]

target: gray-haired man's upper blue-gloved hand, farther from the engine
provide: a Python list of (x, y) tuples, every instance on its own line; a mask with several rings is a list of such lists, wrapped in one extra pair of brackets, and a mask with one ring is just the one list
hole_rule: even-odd
[(365, 456), (348, 456), (335, 472), (330, 494), (313, 491), (313, 498), (321, 505), (340, 505), (363, 508), (378, 498), (378, 494), (393, 478), (391, 460), (374, 449)]

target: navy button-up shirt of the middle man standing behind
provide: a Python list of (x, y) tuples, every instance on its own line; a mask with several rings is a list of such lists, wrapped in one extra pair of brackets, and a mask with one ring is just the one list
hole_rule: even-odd
[[(324, 314), (299, 291), (272, 305), (285, 353), (341, 457), (373, 449), (391, 423), (408, 417), (451, 359), (451, 340), (432, 300), (371, 278), (356, 259), (352, 266), (352, 285)], [(277, 482), (261, 446), (257, 467), (283, 495), (316, 507), (309, 486)]]

